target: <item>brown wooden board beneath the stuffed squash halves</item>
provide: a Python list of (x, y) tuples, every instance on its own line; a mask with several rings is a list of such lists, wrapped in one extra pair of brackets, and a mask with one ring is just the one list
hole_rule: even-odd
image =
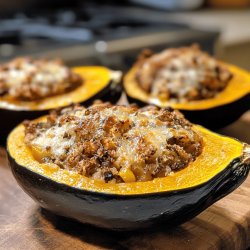
[[(250, 143), (250, 112), (220, 131)], [(0, 249), (227, 249), (250, 247), (250, 176), (191, 221), (114, 234), (47, 212), (17, 185), (0, 150)]]

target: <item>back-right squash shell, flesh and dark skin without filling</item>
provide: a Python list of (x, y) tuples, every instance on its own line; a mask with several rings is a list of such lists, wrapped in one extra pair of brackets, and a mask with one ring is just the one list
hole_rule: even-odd
[(138, 104), (154, 104), (159, 107), (170, 106), (180, 110), (193, 123), (210, 129), (219, 129), (237, 120), (250, 109), (250, 74), (236, 66), (223, 63), (233, 74), (227, 87), (215, 97), (185, 103), (170, 103), (152, 98), (144, 92), (136, 82), (135, 75), (138, 64), (124, 77), (124, 90), (131, 102)]

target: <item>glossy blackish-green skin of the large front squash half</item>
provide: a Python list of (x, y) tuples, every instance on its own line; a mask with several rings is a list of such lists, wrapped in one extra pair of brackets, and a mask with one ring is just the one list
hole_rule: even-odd
[(208, 182), (176, 191), (114, 195), (61, 184), (20, 166), (8, 153), (12, 172), (22, 189), (41, 207), (58, 215), (115, 231), (181, 224), (235, 190), (250, 163), (234, 159)]

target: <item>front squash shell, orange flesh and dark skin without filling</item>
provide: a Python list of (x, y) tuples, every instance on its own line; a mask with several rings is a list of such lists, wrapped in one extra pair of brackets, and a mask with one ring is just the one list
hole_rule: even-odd
[(24, 143), (24, 126), (7, 140), (12, 172), (40, 206), (83, 223), (112, 230), (177, 225), (236, 189), (250, 168), (250, 147), (201, 126), (201, 155), (172, 175), (147, 182), (105, 183), (39, 163)]

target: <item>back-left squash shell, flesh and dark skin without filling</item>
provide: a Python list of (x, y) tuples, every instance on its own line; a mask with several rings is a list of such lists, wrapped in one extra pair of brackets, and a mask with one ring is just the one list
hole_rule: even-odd
[[(0, 97), (0, 138), (1, 143), (7, 134), (24, 119), (34, 119), (49, 110), (68, 106), (72, 103), (90, 104), (95, 99), (116, 102), (120, 98), (121, 89), (119, 72), (110, 71), (99, 66), (75, 67), (73, 71), (80, 74), (84, 82), (76, 89), (39, 101), (14, 101)], [(118, 73), (118, 74), (117, 74)]]

